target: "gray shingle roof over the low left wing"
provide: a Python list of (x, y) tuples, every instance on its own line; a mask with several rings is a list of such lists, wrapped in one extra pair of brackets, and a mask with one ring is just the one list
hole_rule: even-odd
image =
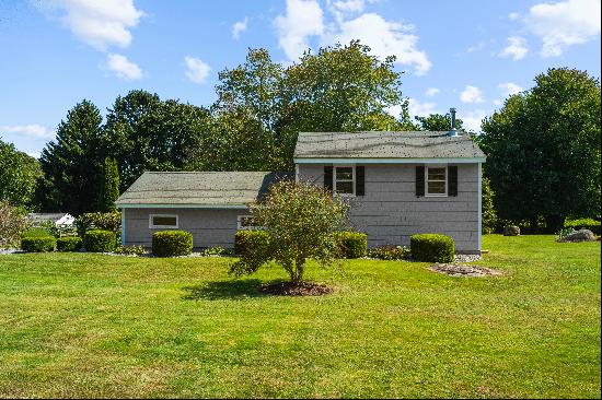
[(116, 204), (245, 205), (267, 191), (283, 173), (144, 173)]

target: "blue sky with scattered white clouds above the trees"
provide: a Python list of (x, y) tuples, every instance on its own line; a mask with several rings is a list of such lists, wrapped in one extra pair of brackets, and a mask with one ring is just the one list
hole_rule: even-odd
[(600, 77), (600, 0), (0, 0), (0, 138), (37, 156), (83, 98), (210, 105), (250, 47), (291, 62), (351, 38), (397, 56), (410, 113), (454, 106), (473, 129), (548, 68)]

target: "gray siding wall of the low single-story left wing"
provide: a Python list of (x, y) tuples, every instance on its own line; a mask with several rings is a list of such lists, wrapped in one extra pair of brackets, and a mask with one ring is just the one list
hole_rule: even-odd
[(125, 212), (126, 245), (151, 247), (152, 233), (166, 230), (149, 228), (149, 216), (177, 214), (178, 230), (193, 234), (195, 248), (234, 247), (238, 216), (248, 213), (246, 210), (227, 209), (124, 209), (121, 211)]

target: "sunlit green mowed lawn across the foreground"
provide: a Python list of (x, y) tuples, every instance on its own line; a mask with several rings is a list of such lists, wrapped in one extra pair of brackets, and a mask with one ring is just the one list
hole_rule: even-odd
[(505, 277), (356, 260), (294, 298), (227, 258), (0, 256), (0, 397), (600, 397), (600, 243), (484, 248)]

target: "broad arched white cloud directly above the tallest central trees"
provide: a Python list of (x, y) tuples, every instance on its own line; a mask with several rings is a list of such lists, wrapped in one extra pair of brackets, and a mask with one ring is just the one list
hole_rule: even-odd
[(381, 15), (366, 13), (338, 24), (338, 31), (323, 37), (324, 44), (347, 44), (359, 39), (370, 46), (372, 54), (381, 58), (396, 56), (398, 64), (414, 67), (415, 73), (427, 73), (431, 67), (426, 52), (416, 48), (418, 36), (409, 33), (413, 27), (401, 22), (384, 20)]

